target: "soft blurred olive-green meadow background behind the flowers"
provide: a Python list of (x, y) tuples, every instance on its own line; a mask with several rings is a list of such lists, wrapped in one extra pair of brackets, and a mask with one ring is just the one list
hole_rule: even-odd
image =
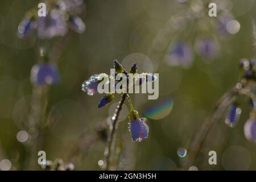
[[(57, 117), (51, 120), (46, 138), (40, 150), (46, 151), (47, 159), (61, 158), (68, 163), (69, 152), (77, 140), (88, 143), (86, 138), (95, 135), (97, 123), (104, 122), (113, 113), (119, 101), (118, 96), (109, 106), (97, 109), (101, 96), (90, 97), (81, 90), (81, 84), (95, 73), (110, 73), (113, 60), (117, 59), (126, 69), (133, 60), (138, 62), (138, 72), (159, 73), (159, 101), (168, 97), (174, 100), (170, 114), (159, 120), (148, 120), (149, 138), (139, 143), (131, 142), (127, 129), (127, 108), (119, 123), (118, 140), (123, 140), (121, 169), (160, 169), (182, 168), (189, 155), (182, 160), (177, 155), (179, 147), (187, 147), (205, 117), (213, 109), (218, 98), (239, 81), (238, 61), (255, 55), (253, 46), (252, 22), (256, 18), (254, 0), (230, 1), (234, 18), (240, 22), (240, 31), (228, 39), (218, 39), (212, 28), (211, 34), (218, 39), (220, 54), (207, 63), (194, 54), (192, 67), (184, 69), (171, 67), (164, 61), (168, 45), (174, 39), (194, 44), (195, 36), (203, 32), (197, 28), (199, 22), (184, 24), (180, 31), (163, 35), (175, 28), (168, 24), (176, 15), (182, 16), (189, 3), (176, 0), (88, 0), (86, 12), (81, 15), (86, 24), (83, 34), (71, 32), (71, 38), (64, 47), (57, 66), (61, 84), (53, 85), (49, 91), (46, 118), (52, 108), (57, 108)], [(217, 1), (209, 1), (217, 2)], [(22, 130), (18, 122), (26, 115), (32, 86), (31, 67), (37, 63), (36, 42), (33, 39), (20, 40), (16, 36), (18, 24), (27, 10), (37, 6), (39, 1), (2, 0), (0, 1), (0, 161), (9, 159), (11, 170), (27, 169), (27, 160), (32, 158), (33, 169), (37, 164), (37, 152), (30, 152), (30, 138), (24, 143), (17, 140)], [(200, 3), (195, 1), (195, 3)], [(217, 4), (218, 6), (218, 4)], [(217, 12), (218, 13), (218, 12)], [(205, 17), (209, 18), (207, 11)], [(217, 14), (218, 17), (218, 14)], [(207, 21), (206, 21), (207, 22)], [(208, 25), (206, 25), (208, 26)], [(213, 26), (212, 26), (213, 27)], [(159, 37), (165, 46), (158, 47)], [(172, 39), (174, 38), (174, 39)], [(49, 41), (52, 45), (59, 38)], [(51, 51), (51, 50), (49, 50)], [(144, 117), (143, 110), (158, 101), (147, 100), (147, 94), (131, 96), (136, 110)], [(22, 100), (23, 104), (20, 104)], [(24, 104), (27, 101), (27, 104)], [(16, 115), (17, 111), (23, 114)], [(28, 109), (27, 109), (28, 110)], [(203, 169), (256, 169), (256, 143), (246, 140), (243, 125), (249, 116), (249, 106), (242, 106), (240, 122), (234, 128), (225, 125), (224, 118), (210, 131), (207, 144), (200, 153), (199, 170)], [(105, 142), (98, 141), (74, 162), (75, 169), (100, 170), (98, 160), (104, 159)], [(217, 165), (208, 164), (208, 152), (217, 152)]]

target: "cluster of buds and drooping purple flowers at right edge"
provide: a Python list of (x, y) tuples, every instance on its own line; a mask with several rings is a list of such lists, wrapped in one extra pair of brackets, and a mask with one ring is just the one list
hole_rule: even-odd
[(241, 107), (240, 96), (246, 97), (246, 102), (251, 109), (250, 118), (244, 125), (245, 137), (248, 140), (256, 142), (256, 97), (255, 97), (255, 81), (256, 81), (256, 64), (254, 59), (242, 59), (239, 63), (242, 73), (241, 82), (237, 84), (238, 93), (235, 100), (229, 106), (225, 123), (230, 127), (236, 125), (240, 119)]

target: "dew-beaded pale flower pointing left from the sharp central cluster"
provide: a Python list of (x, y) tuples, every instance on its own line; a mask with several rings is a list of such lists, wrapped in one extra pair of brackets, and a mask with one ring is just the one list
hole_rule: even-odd
[[(82, 84), (82, 91), (86, 92), (89, 96), (93, 96), (98, 91), (98, 84), (101, 82), (100, 78), (108, 77), (106, 73), (93, 75)], [(106, 82), (108, 84), (108, 82)]]

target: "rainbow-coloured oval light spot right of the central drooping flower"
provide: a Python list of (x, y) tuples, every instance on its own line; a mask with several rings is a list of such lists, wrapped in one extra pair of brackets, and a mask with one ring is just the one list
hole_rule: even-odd
[(166, 98), (164, 101), (160, 101), (144, 110), (144, 114), (147, 118), (162, 119), (171, 113), (174, 106), (174, 100), (172, 98)]

